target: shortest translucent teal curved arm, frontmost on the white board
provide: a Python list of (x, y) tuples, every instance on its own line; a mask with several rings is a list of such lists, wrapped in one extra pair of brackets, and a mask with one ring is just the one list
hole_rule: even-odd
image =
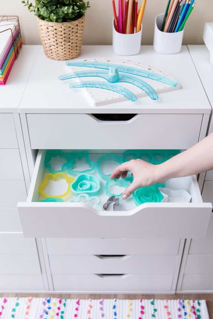
[(109, 84), (101, 81), (82, 81), (82, 82), (74, 82), (70, 84), (71, 89), (81, 88), (81, 87), (95, 87), (98, 89), (113, 91), (118, 94), (125, 96), (126, 99), (134, 102), (137, 100), (137, 97), (130, 90), (126, 89), (126, 87), (118, 85), (118, 84)]

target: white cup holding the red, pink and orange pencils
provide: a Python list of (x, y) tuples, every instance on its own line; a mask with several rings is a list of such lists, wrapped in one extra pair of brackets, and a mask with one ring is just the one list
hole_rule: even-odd
[(115, 30), (114, 19), (112, 20), (112, 48), (118, 56), (133, 56), (141, 50), (141, 30), (137, 33), (125, 34)]

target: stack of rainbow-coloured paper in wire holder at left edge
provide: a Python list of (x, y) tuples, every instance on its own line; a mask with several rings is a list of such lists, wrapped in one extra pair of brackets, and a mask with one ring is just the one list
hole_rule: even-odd
[(0, 16), (0, 85), (5, 85), (21, 45), (18, 17)]

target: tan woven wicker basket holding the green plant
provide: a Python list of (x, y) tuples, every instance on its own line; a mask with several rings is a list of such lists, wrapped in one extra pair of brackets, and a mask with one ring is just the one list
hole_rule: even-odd
[(80, 55), (85, 16), (71, 22), (48, 22), (37, 18), (44, 53), (49, 59), (71, 60)]

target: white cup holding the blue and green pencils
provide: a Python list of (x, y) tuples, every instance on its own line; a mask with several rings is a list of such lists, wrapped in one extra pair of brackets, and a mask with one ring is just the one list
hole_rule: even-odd
[(181, 50), (183, 41), (183, 31), (179, 32), (163, 32), (161, 26), (164, 20), (164, 13), (158, 14), (155, 18), (155, 33), (154, 33), (154, 50), (157, 53), (173, 54)]

